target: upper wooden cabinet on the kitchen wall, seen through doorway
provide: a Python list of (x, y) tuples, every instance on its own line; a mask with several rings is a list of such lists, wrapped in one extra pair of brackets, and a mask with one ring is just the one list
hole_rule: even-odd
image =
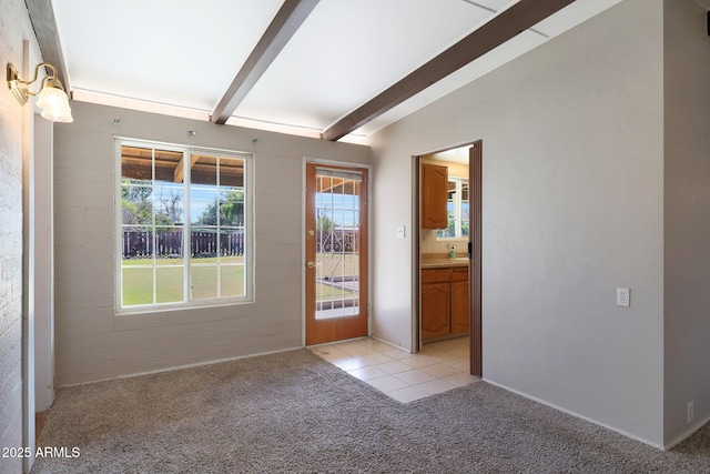
[(446, 229), (448, 226), (448, 168), (422, 163), (422, 226)]

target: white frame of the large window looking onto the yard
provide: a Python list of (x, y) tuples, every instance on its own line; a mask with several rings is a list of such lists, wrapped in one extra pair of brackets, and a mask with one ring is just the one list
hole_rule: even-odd
[[(191, 259), (190, 255), (190, 229), (194, 225), (191, 224), (191, 215), (190, 215), (190, 172), (191, 167), (185, 168), (184, 170), (184, 202), (183, 202), (183, 212), (184, 212), (184, 228), (183, 228), (183, 259), (184, 259), (184, 288), (183, 288), (183, 301), (182, 302), (171, 302), (171, 303), (150, 303), (150, 304), (140, 304), (140, 305), (130, 305), (123, 306), (122, 296), (123, 296), (123, 288), (122, 288), (122, 256), (123, 256), (123, 248), (122, 248), (122, 205), (121, 205), (121, 182), (122, 182), (122, 170), (121, 170), (121, 149), (122, 147), (142, 147), (142, 148), (153, 148), (165, 151), (175, 151), (184, 153), (184, 160), (186, 163), (190, 163), (190, 157), (193, 153), (199, 154), (216, 154), (219, 157), (224, 158), (235, 158), (240, 160), (244, 160), (244, 295), (241, 296), (222, 296), (214, 299), (201, 299), (201, 300), (192, 300), (191, 291), (190, 291), (190, 272), (191, 272)], [(254, 155), (247, 152), (239, 152), (234, 150), (224, 150), (216, 148), (205, 148), (205, 147), (193, 147), (193, 145), (181, 145), (174, 143), (165, 143), (160, 141), (150, 141), (150, 140), (139, 140), (123, 137), (114, 138), (114, 212), (113, 219), (115, 222), (115, 246), (114, 246), (114, 289), (115, 289), (115, 314), (136, 314), (136, 313), (153, 313), (161, 311), (173, 311), (181, 309), (199, 309), (199, 307), (211, 307), (211, 306), (224, 306), (224, 305), (234, 305), (242, 303), (253, 303), (254, 302)]]

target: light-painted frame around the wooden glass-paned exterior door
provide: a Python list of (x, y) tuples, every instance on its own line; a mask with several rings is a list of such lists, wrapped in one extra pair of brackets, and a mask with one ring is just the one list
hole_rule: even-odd
[(371, 248), (367, 252), (367, 335), (372, 335), (373, 327), (373, 313), (372, 313), (372, 295), (373, 295), (373, 279), (372, 279), (372, 268), (373, 268), (373, 251), (372, 251), (372, 236), (373, 236), (373, 226), (372, 226), (372, 192), (373, 192), (373, 167), (367, 163), (357, 163), (349, 161), (337, 161), (337, 160), (325, 160), (320, 158), (311, 158), (304, 157), (301, 163), (301, 269), (302, 269), (302, 278), (301, 278), (301, 294), (303, 295), (303, 301), (301, 302), (301, 344), (303, 347), (306, 346), (306, 278), (304, 269), (306, 268), (306, 165), (308, 163), (314, 164), (323, 164), (325, 167), (339, 167), (339, 168), (359, 168), (367, 170), (367, 242)]

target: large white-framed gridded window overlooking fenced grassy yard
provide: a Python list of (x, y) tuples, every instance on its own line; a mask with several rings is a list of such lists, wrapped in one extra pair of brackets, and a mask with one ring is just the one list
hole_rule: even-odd
[(251, 157), (128, 140), (116, 154), (118, 310), (248, 300)]

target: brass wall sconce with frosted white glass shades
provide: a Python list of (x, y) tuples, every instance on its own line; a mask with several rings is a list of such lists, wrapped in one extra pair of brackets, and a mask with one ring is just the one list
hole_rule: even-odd
[[(40, 81), (40, 89), (32, 92), (29, 85), (37, 81), (40, 68), (44, 65), (52, 71), (51, 75), (47, 75)], [(49, 62), (41, 62), (34, 68), (34, 77), (31, 81), (23, 81), (18, 74), (14, 64), (8, 62), (8, 88), (12, 91), (14, 98), (24, 105), (30, 97), (37, 95), (37, 107), (42, 109), (41, 115), (52, 122), (73, 122), (71, 117), (71, 108), (69, 107), (69, 98), (62, 83), (57, 78), (57, 68)]]

